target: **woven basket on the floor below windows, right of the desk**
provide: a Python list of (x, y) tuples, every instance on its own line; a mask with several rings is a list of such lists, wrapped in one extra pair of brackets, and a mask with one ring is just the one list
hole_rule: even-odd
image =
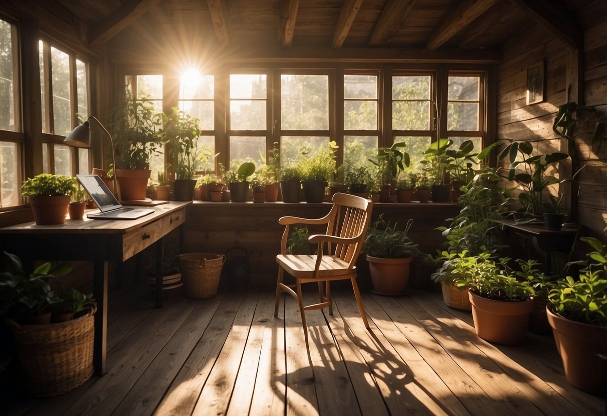
[(226, 257), (223, 254), (180, 254), (181, 280), (189, 298), (210, 298), (217, 294)]

